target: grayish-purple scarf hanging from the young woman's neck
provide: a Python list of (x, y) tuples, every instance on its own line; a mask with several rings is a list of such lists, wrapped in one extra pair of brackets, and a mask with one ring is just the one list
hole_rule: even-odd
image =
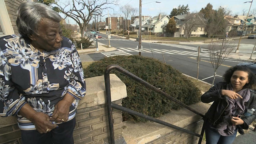
[[(233, 87), (231, 83), (227, 85), (227, 90), (233, 91)], [(236, 126), (233, 126), (233, 124), (231, 123), (230, 115), (233, 117), (237, 117), (239, 114), (243, 114), (245, 112), (244, 103), (249, 101), (249, 98), (251, 96), (250, 89), (242, 89), (238, 91), (238, 94), (242, 96), (242, 99), (240, 97), (236, 99), (228, 98), (229, 104), (223, 112), (223, 116), (222, 116), (223, 120), (216, 127), (219, 134), (223, 136), (229, 136), (234, 134)]]

